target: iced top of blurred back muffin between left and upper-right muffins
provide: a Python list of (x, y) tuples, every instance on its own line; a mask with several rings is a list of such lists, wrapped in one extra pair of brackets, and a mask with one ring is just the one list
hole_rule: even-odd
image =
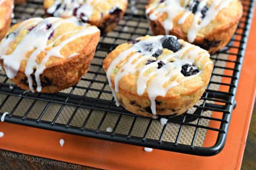
[(127, 0), (44, 0), (48, 14), (54, 17), (76, 16), (85, 23), (101, 20), (107, 14), (125, 10), (126, 6)]

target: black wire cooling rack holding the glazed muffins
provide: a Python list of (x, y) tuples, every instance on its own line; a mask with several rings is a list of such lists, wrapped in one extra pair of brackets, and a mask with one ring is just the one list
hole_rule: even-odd
[[(182, 116), (169, 118), (165, 125), (159, 119), (137, 116), (116, 107), (102, 68), (105, 55), (116, 45), (151, 34), (144, 12), (147, 0), (130, 0), (116, 29), (101, 37), (88, 74), (67, 90), (56, 94), (26, 92), (13, 85), (2, 71), (0, 116), (9, 112), (5, 121), (15, 124), (180, 153), (215, 155), (224, 147), (236, 106), (236, 90), (253, 13), (254, 0), (241, 2), (244, 13), (236, 34), (227, 47), (211, 56), (214, 71), (201, 100)], [(42, 0), (15, 6), (13, 22), (31, 17), (44, 17)], [(231, 57), (227, 58), (228, 55)], [(226, 67), (227, 63), (233, 66)], [(223, 78), (229, 83), (223, 83)], [(224, 90), (219, 90), (220, 86)], [(211, 126), (211, 121), (217, 122), (218, 127)], [(212, 146), (205, 146), (205, 135), (210, 132), (217, 135), (211, 139)]]

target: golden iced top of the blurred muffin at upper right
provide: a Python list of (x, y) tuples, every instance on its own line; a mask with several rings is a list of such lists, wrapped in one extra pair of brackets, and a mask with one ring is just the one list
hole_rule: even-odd
[(166, 34), (172, 29), (187, 34), (189, 42), (204, 37), (215, 28), (237, 23), (242, 15), (239, 0), (149, 0), (149, 20), (160, 20)]

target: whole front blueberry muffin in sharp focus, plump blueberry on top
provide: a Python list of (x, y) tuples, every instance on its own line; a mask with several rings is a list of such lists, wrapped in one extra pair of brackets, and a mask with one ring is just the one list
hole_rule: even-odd
[(142, 116), (180, 115), (204, 93), (209, 53), (175, 36), (145, 36), (117, 46), (103, 68), (116, 105)]

